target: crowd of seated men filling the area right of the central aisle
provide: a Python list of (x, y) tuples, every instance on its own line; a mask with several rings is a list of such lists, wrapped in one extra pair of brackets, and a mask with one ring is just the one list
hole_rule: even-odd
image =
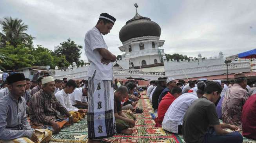
[(232, 84), (221, 80), (176, 84), (173, 78), (161, 77), (150, 82), (147, 96), (158, 114), (155, 127), (182, 134), (186, 143), (242, 143), (239, 131), (256, 139), (256, 89), (247, 85), (244, 73), (234, 74)]

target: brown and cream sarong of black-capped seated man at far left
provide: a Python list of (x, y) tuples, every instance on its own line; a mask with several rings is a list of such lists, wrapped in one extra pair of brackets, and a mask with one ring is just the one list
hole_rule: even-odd
[[(37, 143), (46, 143), (50, 141), (52, 132), (47, 129), (36, 129), (34, 130), (38, 142)], [(12, 140), (0, 140), (0, 143), (34, 143), (31, 141), (29, 138), (23, 137), (23, 138), (17, 138), (17, 139), (12, 139)]]

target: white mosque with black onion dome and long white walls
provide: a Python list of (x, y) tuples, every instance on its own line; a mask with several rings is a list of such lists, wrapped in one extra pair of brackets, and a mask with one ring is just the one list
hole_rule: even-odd
[[(208, 59), (198, 54), (197, 59), (190, 61), (185, 59), (167, 61), (162, 48), (165, 40), (160, 39), (160, 36), (161, 27), (150, 18), (138, 14), (136, 7), (135, 16), (128, 20), (119, 32), (122, 46), (118, 48), (124, 53), (122, 58), (113, 63), (114, 78), (157, 80), (158, 77), (166, 76), (184, 80), (199, 78), (212, 80), (232, 79), (232, 75), (237, 72), (245, 72), (247, 76), (256, 76), (254, 72), (251, 72), (249, 62), (225, 64), (222, 52)], [(56, 66), (55, 79), (63, 77), (87, 79), (88, 68), (88, 65), (77, 67), (76, 63), (70, 65), (67, 70), (59, 70)]]

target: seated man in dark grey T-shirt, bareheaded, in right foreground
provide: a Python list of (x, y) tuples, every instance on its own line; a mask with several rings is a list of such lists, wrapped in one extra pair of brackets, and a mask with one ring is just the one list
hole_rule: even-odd
[[(201, 98), (194, 100), (187, 109), (182, 124), (186, 143), (242, 143), (243, 136), (235, 125), (221, 124), (214, 103), (220, 97), (222, 87), (216, 82), (207, 83)], [(231, 129), (227, 132), (223, 129)], [(236, 131), (235, 131), (236, 130)]]

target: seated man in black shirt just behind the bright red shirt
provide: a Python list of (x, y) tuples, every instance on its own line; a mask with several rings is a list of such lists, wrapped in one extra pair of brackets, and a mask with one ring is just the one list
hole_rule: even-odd
[(160, 94), (162, 93), (163, 89), (166, 88), (166, 80), (167, 80), (167, 77), (159, 77), (158, 78), (158, 84), (156, 85), (156, 89), (152, 95), (152, 106), (154, 108), (154, 111), (157, 111), (158, 98), (159, 98)]

